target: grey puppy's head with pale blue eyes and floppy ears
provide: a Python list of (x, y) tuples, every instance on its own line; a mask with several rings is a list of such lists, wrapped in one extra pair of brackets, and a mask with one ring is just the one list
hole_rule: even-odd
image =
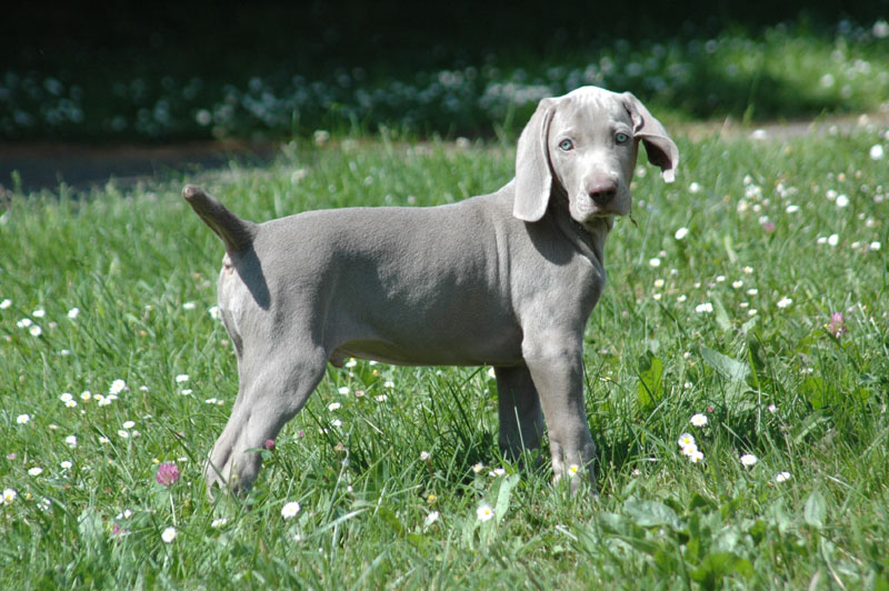
[(568, 197), (580, 224), (630, 212), (630, 181), (639, 142), (672, 182), (679, 150), (663, 126), (629, 92), (583, 87), (543, 99), (519, 138), (513, 216), (538, 221), (550, 196)]

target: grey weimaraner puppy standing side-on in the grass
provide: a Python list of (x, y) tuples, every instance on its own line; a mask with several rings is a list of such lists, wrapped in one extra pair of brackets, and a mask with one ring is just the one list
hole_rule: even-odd
[(555, 481), (586, 473), (595, 490), (583, 330), (605, 286), (606, 237), (630, 212), (640, 141), (671, 182), (679, 152), (661, 123), (630, 93), (585, 87), (540, 101), (512, 181), (459, 203), (257, 224), (187, 186), (226, 247), (219, 309), (240, 374), (208, 491), (247, 490), (256, 450), (299, 412), (328, 361), (348, 357), (492, 365), (503, 452), (539, 449), (546, 420)]

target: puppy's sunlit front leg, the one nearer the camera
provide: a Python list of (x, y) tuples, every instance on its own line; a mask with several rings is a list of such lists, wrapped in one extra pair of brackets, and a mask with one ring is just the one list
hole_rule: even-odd
[(551, 332), (526, 335), (522, 353), (547, 421), (553, 483), (569, 478), (571, 492), (577, 492), (587, 474), (596, 490), (596, 444), (583, 405), (581, 338)]

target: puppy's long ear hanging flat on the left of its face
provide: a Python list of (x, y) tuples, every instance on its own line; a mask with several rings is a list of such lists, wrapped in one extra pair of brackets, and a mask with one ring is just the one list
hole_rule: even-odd
[(520, 220), (538, 221), (547, 212), (552, 190), (549, 164), (549, 124), (556, 112), (556, 100), (543, 99), (519, 137), (516, 152), (516, 201), (512, 214)]

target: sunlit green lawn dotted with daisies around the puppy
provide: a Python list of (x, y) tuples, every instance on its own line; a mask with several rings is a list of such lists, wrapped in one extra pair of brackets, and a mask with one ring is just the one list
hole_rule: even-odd
[[(638, 227), (617, 223), (587, 330), (598, 501), (503, 464), (487, 368), (363, 361), (329, 370), (248, 499), (204, 495), (237, 369), (208, 313), (222, 249), (181, 184), (256, 220), (428, 206), (499, 188), (512, 150), (334, 140), (169, 186), (7, 196), (0, 588), (888, 589), (889, 183), (868, 156), (885, 139), (678, 140), (676, 184), (635, 181)], [(112, 403), (80, 398), (117, 379)], [(182, 478), (163, 488), (170, 461)]]

